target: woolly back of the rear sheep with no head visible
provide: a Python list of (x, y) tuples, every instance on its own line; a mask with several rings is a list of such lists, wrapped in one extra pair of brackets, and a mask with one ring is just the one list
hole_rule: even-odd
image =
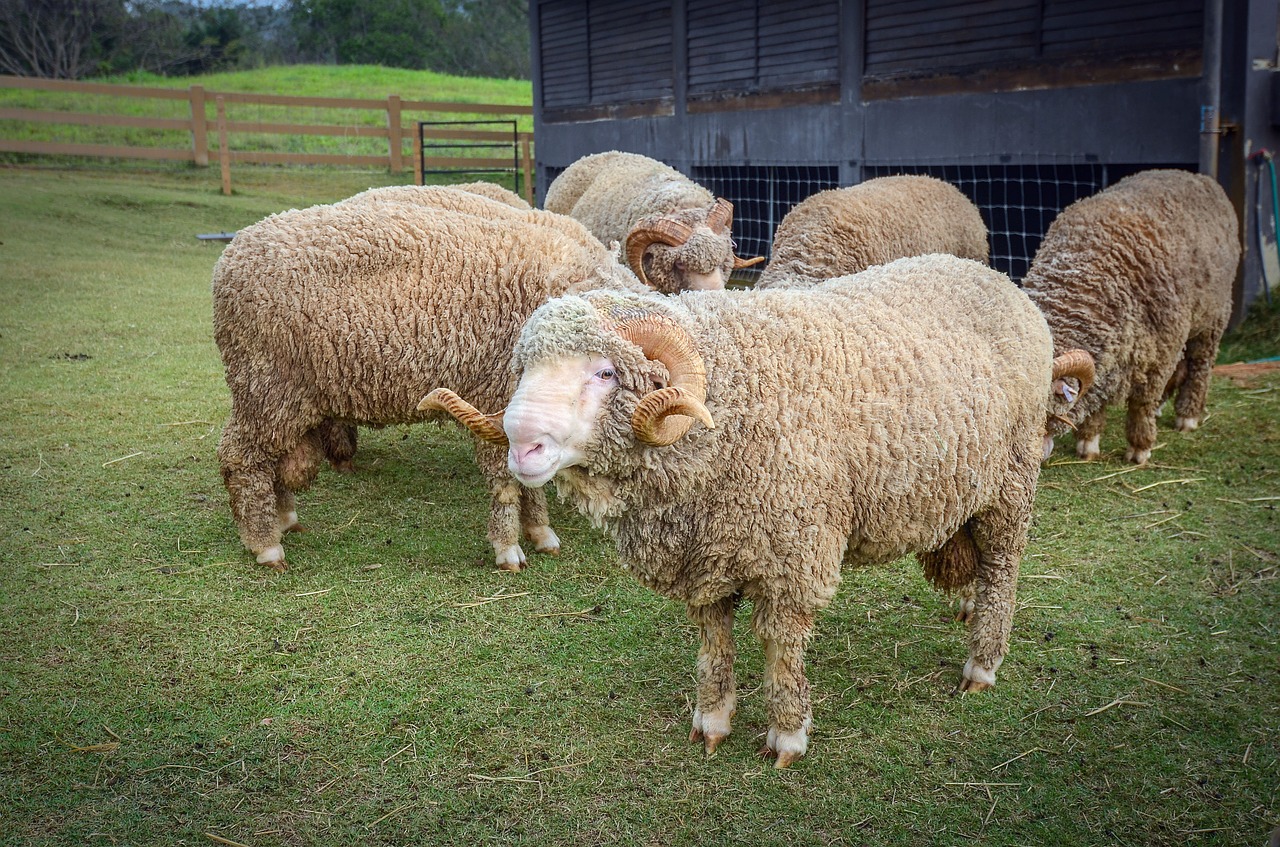
[(881, 177), (820, 191), (788, 211), (755, 287), (805, 285), (925, 253), (986, 264), (987, 225), (978, 207), (933, 177)]

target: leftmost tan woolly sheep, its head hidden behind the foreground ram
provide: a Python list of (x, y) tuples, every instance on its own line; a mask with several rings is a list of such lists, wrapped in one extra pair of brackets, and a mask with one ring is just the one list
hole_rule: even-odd
[[(416, 408), (422, 383), (457, 381), (500, 408), (511, 384), (493, 363), (536, 306), (575, 285), (641, 288), (594, 237), (573, 237), (585, 233), (576, 221), (474, 201), (507, 211), (489, 219), (367, 197), (291, 210), (242, 229), (215, 265), (214, 338), (232, 397), (218, 457), (259, 563), (285, 568), (282, 534), (300, 528), (294, 491), (323, 455), (355, 450), (357, 424), (445, 417)], [(558, 551), (545, 495), (512, 480), (502, 450), (481, 444), (476, 459), (498, 567), (526, 563), (521, 528), (536, 550)]]

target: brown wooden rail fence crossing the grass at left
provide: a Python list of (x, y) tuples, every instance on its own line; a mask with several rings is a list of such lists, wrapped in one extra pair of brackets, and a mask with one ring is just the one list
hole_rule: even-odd
[[(119, 86), (96, 82), (68, 82), (61, 79), (37, 79), (32, 77), (0, 75), (0, 88), (36, 90), (64, 92), (70, 95), (90, 95), (101, 97), (151, 99), (186, 101), (188, 107), (182, 118), (155, 118), (145, 115), (110, 114), (108, 111), (72, 111), (54, 109), (0, 107), (0, 152), (91, 156), (119, 159), (150, 159), (189, 161), (207, 166), (216, 156), (221, 168), (223, 193), (229, 194), (230, 166), (236, 162), (292, 164), (292, 165), (355, 165), (384, 166), (392, 171), (412, 168), (415, 182), (422, 182), (424, 166), (428, 170), (466, 169), (475, 170), (516, 170), (517, 155), (495, 157), (480, 155), (494, 145), (512, 142), (518, 146), (518, 175), (525, 198), (532, 203), (532, 138), (531, 132), (503, 133), (497, 131), (476, 131), (462, 128), (424, 128), (422, 136), (430, 139), (457, 142), (460, 148), (467, 142), (477, 145), (476, 155), (428, 156), (422, 157), (417, 123), (404, 124), (404, 119), (415, 113), (424, 116), (476, 115), (493, 119), (503, 116), (512, 120), (532, 115), (532, 106), (509, 106), (497, 104), (435, 102), (425, 100), (402, 100), (390, 95), (385, 100), (358, 100), (348, 97), (293, 97), (287, 95), (257, 95), (242, 92), (214, 92), (202, 86), (188, 88), (152, 88), (147, 86)], [(214, 116), (210, 118), (210, 107)], [(265, 120), (264, 107), (284, 114), (284, 118)], [(282, 109), (285, 107), (285, 109)], [(367, 110), (381, 111), (385, 120), (381, 125), (370, 122), (351, 123), (291, 123), (287, 120), (287, 107), (310, 110)], [(257, 114), (248, 114), (257, 110)], [(242, 114), (237, 114), (242, 113)], [(247, 119), (255, 118), (255, 119)], [(483, 119), (481, 118), (481, 119)], [(115, 127), (143, 131), (168, 131), (186, 133), (189, 146), (140, 146), (119, 143), (59, 142), (45, 139), (6, 138), (4, 122), (24, 122), (28, 124), (72, 124), (82, 127)], [(289, 150), (252, 148), (252, 145), (237, 145), (247, 136), (291, 136), (298, 137), (338, 137), (342, 139), (375, 138), (384, 139), (380, 145), (384, 152), (311, 152)], [(404, 155), (406, 142), (411, 154)], [(268, 145), (257, 145), (268, 146)], [(275, 147), (285, 146), (276, 142)], [(462, 152), (462, 151), (460, 151)]]

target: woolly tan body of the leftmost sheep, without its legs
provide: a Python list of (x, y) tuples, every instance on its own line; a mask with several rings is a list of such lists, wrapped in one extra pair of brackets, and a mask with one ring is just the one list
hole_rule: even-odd
[(233, 416), (294, 435), (329, 417), (410, 422), (442, 384), (498, 408), (524, 319), (607, 261), (594, 239), (408, 203), (271, 215), (214, 269)]

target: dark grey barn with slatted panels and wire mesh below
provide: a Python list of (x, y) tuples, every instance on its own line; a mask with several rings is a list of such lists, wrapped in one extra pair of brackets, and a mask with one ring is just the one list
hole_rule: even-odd
[(645, 154), (731, 200), (739, 252), (768, 255), (815, 191), (928, 173), (978, 205), (1020, 279), (1075, 198), (1201, 170), (1243, 220), (1239, 319), (1277, 276), (1258, 152), (1280, 147), (1277, 5), (530, 0), (538, 186), (591, 152)]

